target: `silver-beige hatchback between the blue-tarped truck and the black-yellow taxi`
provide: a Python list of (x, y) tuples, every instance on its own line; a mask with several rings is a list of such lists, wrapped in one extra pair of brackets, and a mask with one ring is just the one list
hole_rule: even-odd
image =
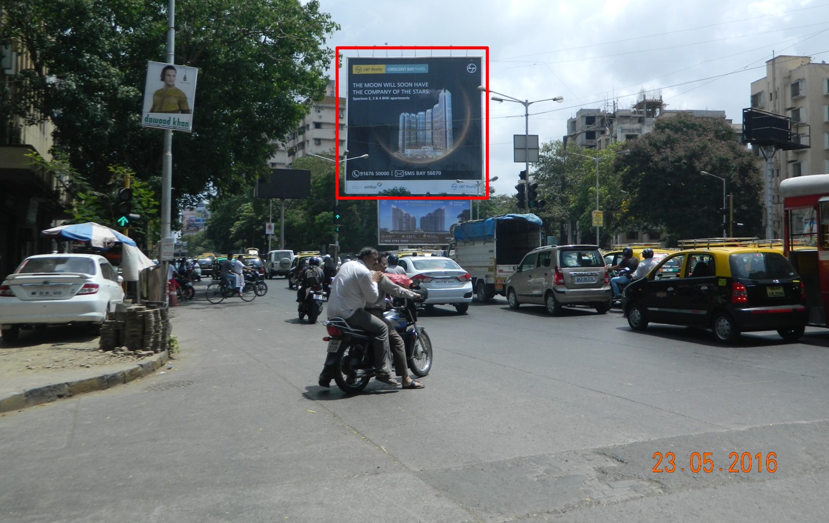
[(565, 305), (610, 310), (610, 278), (598, 245), (545, 245), (531, 250), (507, 278), (510, 308), (544, 305), (550, 315)]

